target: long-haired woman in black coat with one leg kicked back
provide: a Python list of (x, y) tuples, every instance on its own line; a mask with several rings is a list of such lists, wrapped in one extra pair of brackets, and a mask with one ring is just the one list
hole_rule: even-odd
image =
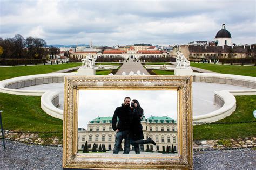
[(144, 139), (143, 136), (143, 130), (142, 130), (142, 117), (143, 117), (143, 109), (140, 107), (140, 104), (138, 100), (133, 99), (131, 102), (131, 126), (130, 126), (130, 141), (131, 145), (133, 145), (135, 153), (139, 154), (139, 144), (153, 144), (156, 145), (156, 143), (151, 139), (147, 138)]

